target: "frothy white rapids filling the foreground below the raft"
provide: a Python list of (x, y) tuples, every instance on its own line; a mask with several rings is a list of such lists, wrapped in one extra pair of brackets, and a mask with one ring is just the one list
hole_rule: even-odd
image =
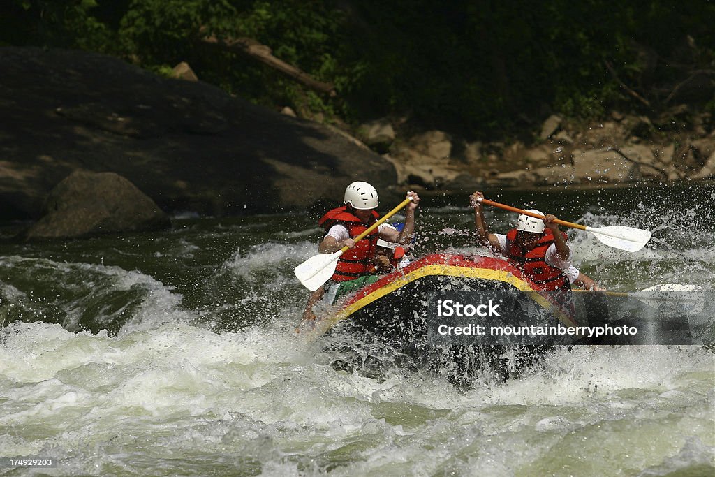
[(430, 373), (333, 370), (318, 343), (273, 328), (173, 323), (110, 338), (14, 323), (0, 339), (2, 453), (54, 453), (61, 473), (543, 474), (564, 454), (581, 461), (563, 469), (599, 475), (601, 458), (687, 467), (701, 461), (687, 442), (698, 456), (715, 445), (714, 358), (696, 347), (563, 349), (460, 394)]

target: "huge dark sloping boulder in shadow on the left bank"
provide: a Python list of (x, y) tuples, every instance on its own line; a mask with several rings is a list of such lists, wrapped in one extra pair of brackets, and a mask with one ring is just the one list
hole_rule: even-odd
[(167, 212), (211, 215), (332, 204), (353, 180), (390, 202), (397, 179), (329, 127), (111, 56), (4, 47), (0, 71), (1, 218), (36, 219), (79, 168), (116, 172)]

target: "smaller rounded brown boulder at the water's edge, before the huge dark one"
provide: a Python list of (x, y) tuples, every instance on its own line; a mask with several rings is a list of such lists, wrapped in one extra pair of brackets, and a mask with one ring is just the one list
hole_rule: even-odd
[(171, 225), (153, 200), (113, 172), (73, 172), (49, 193), (43, 212), (24, 233), (25, 240), (159, 230)]

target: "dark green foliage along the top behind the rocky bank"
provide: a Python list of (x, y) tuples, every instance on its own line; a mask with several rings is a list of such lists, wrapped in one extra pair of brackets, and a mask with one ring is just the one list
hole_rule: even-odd
[[(508, 137), (551, 112), (644, 112), (621, 83), (666, 107), (691, 69), (714, 67), (708, 18), (712, 2), (674, 0), (10, 0), (0, 44), (100, 51), (161, 74), (186, 61), (200, 79), (275, 109), (352, 123), (409, 115)], [(204, 44), (204, 34), (255, 39), (338, 96)], [(694, 101), (712, 108), (712, 91)]]

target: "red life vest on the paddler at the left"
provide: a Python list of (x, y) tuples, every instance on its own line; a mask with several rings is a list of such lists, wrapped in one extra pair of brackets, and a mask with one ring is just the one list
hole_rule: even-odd
[[(330, 210), (317, 223), (325, 229), (325, 232), (330, 230), (333, 225), (343, 225), (347, 229), (350, 238), (355, 238), (365, 232), (380, 217), (378, 212), (373, 210), (373, 216), (370, 217), (368, 224), (365, 225), (358, 217), (348, 212), (348, 209), (347, 205), (343, 205)], [(355, 280), (355, 278), (363, 277), (364, 275), (370, 275), (371, 270), (373, 270), (373, 264), (370, 259), (375, 254), (375, 245), (378, 242), (379, 233), (378, 229), (375, 228), (367, 237), (356, 243), (355, 247), (346, 250), (345, 253), (340, 255), (331, 280), (345, 282)]]

